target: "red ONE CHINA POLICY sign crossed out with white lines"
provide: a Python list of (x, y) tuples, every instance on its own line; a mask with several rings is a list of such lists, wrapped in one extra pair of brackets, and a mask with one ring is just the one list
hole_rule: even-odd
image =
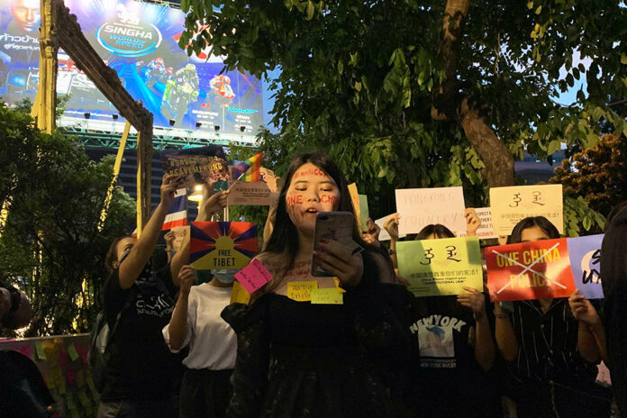
[(568, 297), (575, 291), (566, 238), (486, 248), (493, 302)]

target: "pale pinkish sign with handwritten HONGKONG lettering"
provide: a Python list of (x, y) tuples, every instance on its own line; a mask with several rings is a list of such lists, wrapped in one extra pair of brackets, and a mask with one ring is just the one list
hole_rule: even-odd
[(433, 223), (452, 232), (466, 232), (464, 192), (461, 187), (396, 189), (400, 234), (418, 233)]

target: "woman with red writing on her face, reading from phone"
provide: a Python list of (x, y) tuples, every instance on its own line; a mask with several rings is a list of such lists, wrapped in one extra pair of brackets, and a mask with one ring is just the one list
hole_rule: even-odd
[[(404, 287), (383, 284), (395, 283), (391, 263), (357, 223), (352, 240), (365, 250), (351, 255), (328, 241), (315, 256), (335, 277), (311, 276), (316, 214), (353, 213), (347, 182), (320, 152), (295, 157), (285, 178), (274, 229), (251, 263), (269, 281), (250, 306), (222, 314), (238, 335), (227, 416), (401, 416), (392, 396), (402, 393), (409, 341), (392, 296)], [(312, 295), (295, 295), (295, 284)], [(319, 289), (341, 303), (314, 304)]]

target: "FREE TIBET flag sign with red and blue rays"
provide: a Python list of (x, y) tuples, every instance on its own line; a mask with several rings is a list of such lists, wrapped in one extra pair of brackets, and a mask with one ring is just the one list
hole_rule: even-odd
[(198, 270), (245, 268), (259, 250), (257, 225), (240, 222), (193, 222), (189, 261)]

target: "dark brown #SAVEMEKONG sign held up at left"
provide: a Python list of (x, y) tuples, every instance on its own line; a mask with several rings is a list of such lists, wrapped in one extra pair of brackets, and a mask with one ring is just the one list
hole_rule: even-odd
[(186, 187), (205, 184), (213, 190), (216, 181), (231, 177), (224, 150), (217, 145), (161, 151), (161, 165), (167, 175), (186, 177)]

